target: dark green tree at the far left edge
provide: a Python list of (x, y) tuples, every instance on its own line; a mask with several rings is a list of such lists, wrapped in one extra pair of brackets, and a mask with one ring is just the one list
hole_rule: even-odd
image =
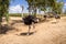
[(9, 21), (9, 14), (8, 14), (9, 3), (10, 0), (0, 0), (0, 29), (3, 15), (6, 15), (7, 22)]

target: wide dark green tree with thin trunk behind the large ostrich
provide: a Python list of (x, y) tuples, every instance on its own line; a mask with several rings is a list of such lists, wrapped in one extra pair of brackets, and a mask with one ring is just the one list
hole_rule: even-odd
[(55, 3), (55, 0), (26, 0), (29, 3), (29, 7), (31, 8), (33, 6), (34, 14), (36, 15), (36, 9), (45, 9), (45, 7), (51, 7), (52, 3)]

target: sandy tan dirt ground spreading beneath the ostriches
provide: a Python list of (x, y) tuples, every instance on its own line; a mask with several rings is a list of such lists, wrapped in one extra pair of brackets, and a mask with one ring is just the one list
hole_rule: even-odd
[(52, 19), (35, 24), (30, 35), (26, 35), (28, 25), (21, 20), (21, 18), (10, 18), (13, 29), (0, 35), (0, 44), (66, 44), (66, 16), (62, 16), (57, 23)]

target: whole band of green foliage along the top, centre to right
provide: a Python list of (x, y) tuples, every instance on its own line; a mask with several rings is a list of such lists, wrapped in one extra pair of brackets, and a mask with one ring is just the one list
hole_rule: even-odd
[(26, 0), (26, 1), (30, 8), (34, 6), (34, 8), (38, 8), (42, 11), (46, 11), (47, 8), (51, 8), (52, 11), (62, 13), (63, 0), (61, 0), (59, 2), (57, 2), (57, 0)]

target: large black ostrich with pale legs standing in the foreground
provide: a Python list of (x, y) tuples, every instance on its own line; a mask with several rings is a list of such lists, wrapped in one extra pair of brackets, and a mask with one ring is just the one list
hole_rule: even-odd
[(34, 15), (26, 15), (25, 18), (23, 18), (23, 22), (25, 25), (29, 25), (28, 35), (30, 35), (31, 25), (33, 24), (33, 29), (35, 29), (34, 24), (37, 23), (37, 18), (35, 18)]

